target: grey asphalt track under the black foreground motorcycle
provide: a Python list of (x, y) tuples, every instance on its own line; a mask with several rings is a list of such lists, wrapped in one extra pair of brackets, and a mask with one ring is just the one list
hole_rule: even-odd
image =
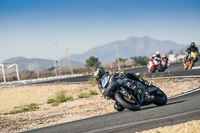
[(166, 105), (142, 106), (88, 119), (26, 131), (26, 133), (134, 133), (200, 119), (200, 89), (170, 98)]

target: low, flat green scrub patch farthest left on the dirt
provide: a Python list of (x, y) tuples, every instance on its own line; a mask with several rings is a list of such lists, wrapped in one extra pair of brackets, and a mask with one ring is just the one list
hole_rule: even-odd
[(14, 109), (12, 111), (10, 111), (10, 113), (5, 113), (4, 115), (7, 114), (18, 114), (18, 113), (22, 113), (22, 112), (27, 112), (27, 111), (33, 111), (39, 109), (38, 104), (36, 103), (31, 103), (29, 105), (24, 105), (24, 106), (20, 106), (20, 107), (14, 107)]

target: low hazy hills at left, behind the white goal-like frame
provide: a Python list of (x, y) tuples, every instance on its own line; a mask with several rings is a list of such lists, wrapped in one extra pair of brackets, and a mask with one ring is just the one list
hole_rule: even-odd
[[(60, 62), (59, 66), (67, 67), (67, 60), (63, 60)], [(42, 71), (42, 70), (47, 70), (51, 67), (54, 66), (54, 61), (53, 60), (48, 60), (48, 59), (39, 59), (39, 58), (24, 58), (24, 57), (14, 57), (5, 60), (3, 63), (17, 63), (19, 71)], [(84, 64), (75, 62), (75, 61), (70, 61), (70, 64), (72, 67), (84, 67)]]

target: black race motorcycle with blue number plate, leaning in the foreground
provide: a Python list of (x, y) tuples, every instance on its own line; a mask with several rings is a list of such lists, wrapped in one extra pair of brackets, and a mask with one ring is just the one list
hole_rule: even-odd
[[(139, 73), (137, 73), (140, 76)], [(101, 78), (102, 94), (116, 103), (114, 109), (123, 111), (125, 108), (132, 111), (140, 110), (141, 106), (155, 104), (158, 106), (167, 103), (167, 96), (156, 86), (147, 87), (141, 82), (127, 78), (125, 75), (116, 76), (105, 74)]]

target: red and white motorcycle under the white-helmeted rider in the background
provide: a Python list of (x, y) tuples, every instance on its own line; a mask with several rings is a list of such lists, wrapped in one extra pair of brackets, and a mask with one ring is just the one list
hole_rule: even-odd
[(154, 58), (152, 61), (149, 61), (149, 64), (147, 66), (149, 73), (154, 73), (160, 68), (160, 60), (158, 58)]

